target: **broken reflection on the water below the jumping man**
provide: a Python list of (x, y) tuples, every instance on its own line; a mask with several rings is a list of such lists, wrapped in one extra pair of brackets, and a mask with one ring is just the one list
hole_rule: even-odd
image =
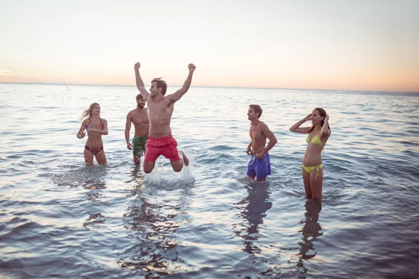
[(146, 190), (137, 193), (138, 198), (128, 206), (123, 218), (128, 237), (134, 244), (118, 264), (125, 269), (149, 272), (147, 276), (168, 275), (176, 268), (176, 262), (183, 262), (178, 257), (178, 243), (173, 235), (182, 224), (190, 221), (185, 211), (190, 186), (166, 190), (147, 184)]

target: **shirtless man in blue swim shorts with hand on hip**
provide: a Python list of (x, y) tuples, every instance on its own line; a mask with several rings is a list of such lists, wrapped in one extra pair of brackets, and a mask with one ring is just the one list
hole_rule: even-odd
[[(257, 181), (265, 181), (266, 176), (271, 174), (269, 153), (272, 147), (277, 144), (277, 137), (267, 127), (265, 123), (259, 120), (262, 115), (262, 109), (259, 105), (249, 105), (247, 112), (250, 123), (250, 143), (247, 146), (247, 155), (251, 155), (249, 164), (247, 165), (247, 176), (252, 179), (256, 177)], [(266, 145), (266, 139), (269, 143)]]

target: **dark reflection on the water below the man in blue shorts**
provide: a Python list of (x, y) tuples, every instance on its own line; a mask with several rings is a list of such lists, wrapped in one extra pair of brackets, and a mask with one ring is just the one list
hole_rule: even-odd
[(233, 225), (233, 229), (237, 236), (244, 239), (244, 252), (249, 254), (260, 253), (260, 248), (256, 246), (255, 242), (260, 238), (258, 226), (263, 224), (263, 218), (266, 216), (266, 211), (272, 207), (272, 202), (269, 199), (270, 192), (268, 192), (270, 183), (251, 183), (245, 186), (247, 189), (247, 197), (244, 197), (240, 202), (237, 202), (237, 209), (242, 209), (246, 205), (240, 215), (245, 220), (241, 223), (242, 228), (238, 229), (237, 225)]

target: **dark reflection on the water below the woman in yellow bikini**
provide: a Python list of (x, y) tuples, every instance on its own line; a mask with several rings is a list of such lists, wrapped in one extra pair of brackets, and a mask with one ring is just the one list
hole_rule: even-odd
[(314, 249), (314, 243), (316, 239), (323, 235), (321, 232), (321, 225), (318, 223), (318, 214), (321, 212), (321, 201), (314, 199), (307, 199), (305, 203), (306, 212), (304, 219), (301, 220), (302, 229), (299, 231), (302, 233), (302, 241), (298, 243), (300, 245), (300, 253), (298, 256), (300, 259), (297, 262), (297, 268), (302, 273), (307, 273), (308, 269), (304, 267), (303, 260), (313, 259), (316, 257), (317, 252)]

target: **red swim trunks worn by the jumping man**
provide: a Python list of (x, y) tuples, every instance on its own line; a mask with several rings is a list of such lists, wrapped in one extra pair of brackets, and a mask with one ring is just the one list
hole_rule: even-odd
[(163, 155), (170, 161), (180, 160), (177, 152), (177, 142), (172, 135), (166, 137), (149, 137), (145, 144), (145, 158), (144, 162), (154, 162)]

